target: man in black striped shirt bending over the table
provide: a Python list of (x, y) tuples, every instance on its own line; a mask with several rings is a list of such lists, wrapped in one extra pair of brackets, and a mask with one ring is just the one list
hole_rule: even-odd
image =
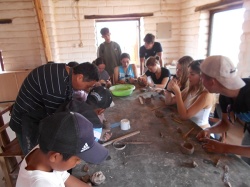
[(73, 90), (87, 91), (98, 80), (98, 69), (89, 62), (73, 68), (53, 63), (34, 69), (20, 88), (10, 119), (24, 154), (37, 144), (40, 120), (71, 99)]

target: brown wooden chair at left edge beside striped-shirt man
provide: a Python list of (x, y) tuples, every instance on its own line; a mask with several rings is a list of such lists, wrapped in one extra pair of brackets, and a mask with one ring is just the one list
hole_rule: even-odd
[(0, 164), (7, 187), (14, 186), (12, 177), (18, 174), (16, 171), (19, 169), (19, 163), (16, 156), (24, 157), (17, 138), (10, 140), (6, 131), (9, 120), (5, 123), (3, 115), (10, 113), (11, 108), (12, 104), (0, 108)]

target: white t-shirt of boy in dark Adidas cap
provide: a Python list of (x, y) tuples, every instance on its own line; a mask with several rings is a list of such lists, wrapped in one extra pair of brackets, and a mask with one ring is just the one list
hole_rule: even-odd
[[(36, 148), (38, 146), (34, 149)], [(45, 172), (40, 170), (26, 170), (26, 157), (21, 163), (16, 187), (65, 187), (64, 183), (70, 176), (67, 171)]]

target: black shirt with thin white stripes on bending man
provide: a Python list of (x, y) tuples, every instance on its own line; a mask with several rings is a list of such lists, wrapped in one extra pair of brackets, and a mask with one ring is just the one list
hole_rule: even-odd
[[(45, 64), (34, 69), (24, 80), (14, 104), (10, 127), (22, 132), (22, 117), (36, 111), (51, 115), (65, 102), (72, 88), (65, 64)], [(42, 115), (41, 115), (42, 116)]]

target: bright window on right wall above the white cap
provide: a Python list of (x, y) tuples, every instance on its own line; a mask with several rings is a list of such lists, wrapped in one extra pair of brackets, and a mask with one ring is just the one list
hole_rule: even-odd
[(244, 11), (236, 7), (211, 12), (209, 56), (227, 56), (237, 66)]

